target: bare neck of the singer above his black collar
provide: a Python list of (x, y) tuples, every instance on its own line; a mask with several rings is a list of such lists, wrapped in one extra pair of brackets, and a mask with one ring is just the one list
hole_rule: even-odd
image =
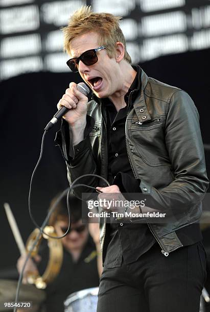
[(120, 109), (126, 107), (124, 96), (128, 92), (132, 82), (135, 79), (136, 71), (132, 68), (130, 64), (124, 62), (121, 68), (121, 76), (124, 77), (124, 80), (121, 82), (119, 90), (108, 97), (112, 101), (117, 112)]

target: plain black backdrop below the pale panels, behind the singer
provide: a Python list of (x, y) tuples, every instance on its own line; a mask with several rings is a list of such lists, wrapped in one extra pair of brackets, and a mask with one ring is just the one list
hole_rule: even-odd
[[(200, 113), (205, 144), (209, 136), (210, 49), (177, 54), (141, 64), (149, 76), (188, 92)], [(34, 228), (28, 214), (29, 182), (38, 160), (43, 128), (56, 112), (56, 103), (69, 82), (80, 82), (73, 73), (28, 73), (0, 84), (1, 180), (0, 180), (0, 277), (9, 277), (19, 256), (3, 208), (9, 202), (22, 238)], [(57, 126), (58, 128), (58, 126)], [(33, 211), (40, 224), (50, 200), (67, 187), (65, 163), (54, 146), (56, 129), (46, 135), (44, 155), (36, 174)], [(210, 172), (210, 151), (206, 151)], [(11, 273), (11, 276), (13, 274)]]

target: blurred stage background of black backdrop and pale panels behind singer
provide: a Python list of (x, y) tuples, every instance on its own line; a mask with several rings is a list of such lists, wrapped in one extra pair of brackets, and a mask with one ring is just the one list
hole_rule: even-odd
[[(11, 205), (26, 242), (34, 228), (28, 214), (28, 192), (43, 128), (69, 82), (81, 81), (65, 64), (68, 56), (62, 52), (59, 29), (82, 4), (122, 15), (121, 27), (133, 63), (139, 63), (149, 76), (191, 95), (200, 114), (210, 175), (209, 0), (0, 0), (0, 278), (17, 278), (19, 257), (3, 204)], [(56, 125), (45, 137), (33, 185), (32, 208), (39, 224), (51, 199), (68, 186), (64, 160), (54, 146), (58, 128)], [(204, 232), (208, 256), (209, 235), (208, 228)]]

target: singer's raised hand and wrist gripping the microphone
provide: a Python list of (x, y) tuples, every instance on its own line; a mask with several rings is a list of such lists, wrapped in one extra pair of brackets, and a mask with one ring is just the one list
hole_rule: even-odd
[(63, 118), (68, 122), (71, 128), (85, 128), (87, 102), (87, 96), (78, 91), (76, 83), (72, 82), (59, 100), (57, 108), (60, 109), (62, 106), (65, 106), (69, 109)]

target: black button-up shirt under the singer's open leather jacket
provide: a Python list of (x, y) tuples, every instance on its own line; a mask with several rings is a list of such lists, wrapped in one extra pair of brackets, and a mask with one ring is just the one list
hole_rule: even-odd
[[(117, 112), (108, 98), (102, 100), (107, 115), (108, 181), (112, 185), (118, 185), (121, 192), (141, 192), (140, 181), (135, 179), (128, 159), (125, 139), (127, 110), (132, 107), (135, 99), (134, 94), (132, 102), (129, 102), (129, 95), (133, 90), (140, 89), (141, 68), (134, 69), (138, 72), (125, 95), (126, 107)], [(121, 266), (122, 257), (126, 264), (136, 261), (155, 243), (147, 224), (116, 223), (113, 218), (110, 222), (107, 223), (105, 267)]]

